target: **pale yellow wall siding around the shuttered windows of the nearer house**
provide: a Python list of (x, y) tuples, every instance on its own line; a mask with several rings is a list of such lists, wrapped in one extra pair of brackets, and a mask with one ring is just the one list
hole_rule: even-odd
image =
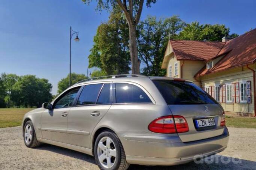
[[(251, 68), (255, 68), (255, 65), (251, 65)], [(255, 75), (254, 75), (255, 76)], [(251, 103), (220, 103), (224, 111), (228, 112), (241, 112), (241, 113), (254, 113), (254, 98), (253, 98), (253, 73), (246, 67), (239, 67), (229, 69), (227, 71), (218, 72), (215, 74), (205, 75), (201, 77), (202, 87), (218, 86), (230, 83), (239, 83), (239, 96), (240, 83), (251, 81)]]

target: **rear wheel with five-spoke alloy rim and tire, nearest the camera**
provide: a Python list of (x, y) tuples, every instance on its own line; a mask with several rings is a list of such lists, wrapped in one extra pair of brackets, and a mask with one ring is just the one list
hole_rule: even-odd
[[(107, 145), (107, 141), (110, 143), (109, 145)], [(110, 147), (108, 148), (108, 146)], [(114, 151), (116, 151), (116, 157), (113, 156), (115, 155)], [(96, 138), (94, 156), (101, 170), (126, 170), (130, 166), (125, 159), (125, 152), (120, 139), (110, 131), (103, 131)], [(109, 161), (111, 162), (110, 164)]]

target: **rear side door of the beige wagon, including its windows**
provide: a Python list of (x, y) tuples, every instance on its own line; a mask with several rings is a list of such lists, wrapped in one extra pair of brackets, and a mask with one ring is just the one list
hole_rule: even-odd
[(111, 106), (110, 82), (85, 85), (68, 116), (68, 143), (90, 147), (90, 136)]

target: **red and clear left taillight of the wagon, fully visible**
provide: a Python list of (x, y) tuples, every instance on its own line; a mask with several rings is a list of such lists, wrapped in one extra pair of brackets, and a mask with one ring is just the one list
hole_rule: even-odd
[(183, 133), (188, 132), (188, 123), (182, 116), (163, 116), (152, 121), (148, 129), (155, 133)]

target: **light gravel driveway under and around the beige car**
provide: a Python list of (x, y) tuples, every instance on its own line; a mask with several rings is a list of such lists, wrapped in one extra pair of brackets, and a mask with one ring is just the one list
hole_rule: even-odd
[[(228, 148), (211, 159), (214, 163), (188, 163), (180, 166), (131, 165), (129, 170), (178, 169), (254, 169), (256, 170), (256, 129), (229, 128)], [(241, 160), (234, 159), (240, 157)], [(210, 161), (211, 161), (210, 160)], [(233, 161), (230, 161), (233, 160)], [(98, 170), (92, 156), (57, 146), (44, 144), (36, 149), (27, 148), (21, 127), (0, 129), (0, 169), (85, 169)]]

